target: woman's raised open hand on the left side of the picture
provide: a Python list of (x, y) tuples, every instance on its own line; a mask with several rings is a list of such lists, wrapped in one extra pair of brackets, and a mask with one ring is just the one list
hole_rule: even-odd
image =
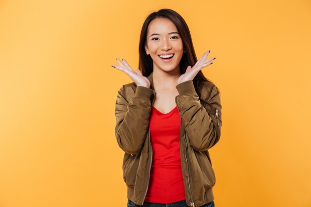
[(122, 59), (124, 64), (117, 58), (118, 63), (120, 66), (111, 65), (112, 67), (121, 70), (129, 75), (129, 77), (136, 83), (137, 86), (145, 86), (150, 88), (150, 81), (147, 77), (145, 77), (139, 69), (134, 71), (129, 64), (126, 62), (125, 59)]

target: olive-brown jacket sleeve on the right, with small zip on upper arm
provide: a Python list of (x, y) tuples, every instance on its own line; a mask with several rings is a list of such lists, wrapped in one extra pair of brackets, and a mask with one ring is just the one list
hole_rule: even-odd
[(186, 129), (190, 145), (197, 151), (204, 151), (214, 146), (220, 139), (222, 127), (222, 105), (220, 92), (214, 85), (207, 102), (211, 110), (201, 104), (192, 80), (176, 85), (179, 95), (176, 104), (179, 106), (182, 124)]

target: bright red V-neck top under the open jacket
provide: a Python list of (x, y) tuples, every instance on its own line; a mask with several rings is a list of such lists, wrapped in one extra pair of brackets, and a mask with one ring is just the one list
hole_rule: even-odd
[(180, 160), (180, 116), (175, 106), (167, 114), (151, 110), (153, 159), (146, 202), (169, 204), (185, 200)]

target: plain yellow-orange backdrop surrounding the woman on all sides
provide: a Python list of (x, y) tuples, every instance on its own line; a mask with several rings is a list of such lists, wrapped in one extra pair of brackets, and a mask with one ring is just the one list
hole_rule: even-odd
[(310, 0), (0, 0), (0, 207), (126, 207), (111, 65), (160, 8), (216, 57), (216, 207), (311, 207)]

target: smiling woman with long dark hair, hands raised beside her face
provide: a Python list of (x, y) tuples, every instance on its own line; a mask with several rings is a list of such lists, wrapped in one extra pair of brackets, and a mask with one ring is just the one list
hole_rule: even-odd
[(220, 93), (197, 60), (184, 19), (171, 9), (143, 24), (139, 69), (117, 59), (112, 67), (134, 81), (116, 100), (117, 142), (125, 152), (128, 207), (214, 207), (216, 178), (208, 149), (221, 135)]

